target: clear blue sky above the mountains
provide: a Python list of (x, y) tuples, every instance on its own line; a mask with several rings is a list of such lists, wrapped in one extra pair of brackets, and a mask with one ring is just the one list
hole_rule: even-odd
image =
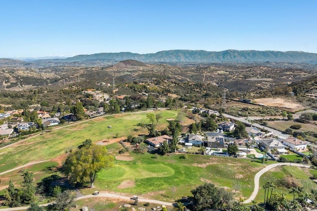
[(0, 0), (0, 57), (317, 53), (317, 0)]

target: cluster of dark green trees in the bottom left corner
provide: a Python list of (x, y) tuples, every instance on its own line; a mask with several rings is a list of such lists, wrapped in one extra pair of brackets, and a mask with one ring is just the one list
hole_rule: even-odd
[(5, 189), (4, 193), (4, 205), (8, 207), (19, 207), (34, 202), (36, 188), (33, 180), (33, 173), (28, 171), (23, 173), (21, 189), (15, 188), (13, 182), (10, 180), (9, 187)]

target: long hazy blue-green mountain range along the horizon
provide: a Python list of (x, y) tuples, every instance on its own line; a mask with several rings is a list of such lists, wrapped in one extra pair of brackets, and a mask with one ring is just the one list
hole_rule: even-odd
[[(317, 64), (317, 53), (306, 52), (278, 52), (278, 51), (237, 51), (226, 50), (222, 52), (170, 50), (158, 53), (95, 53), (90, 55), (76, 55), (68, 58), (39, 59), (32, 61), (12, 62), (24, 66), (93, 66), (109, 65), (122, 60), (133, 59), (142, 62), (214, 62), (214, 63), (241, 63), (241, 62), (292, 62)], [(23, 63), (24, 62), (24, 63)], [(0, 65), (5, 64), (0, 59)], [(4, 65), (5, 66), (5, 65)]]

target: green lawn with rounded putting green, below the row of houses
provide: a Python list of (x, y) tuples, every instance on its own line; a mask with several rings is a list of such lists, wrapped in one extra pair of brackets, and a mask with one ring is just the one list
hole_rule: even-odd
[[(130, 153), (131, 161), (115, 160), (113, 168), (101, 171), (95, 189), (129, 195), (153, 194), (158, 200), (172, 200), (171, 188), (176, 188), (175, 197), (191, 196), (190, 191), (205, 182), (232, 189), (234, 181), (241, 183), (237, 197), (249, 197), (254, 188), (254, 175), (264, 168), (250, 159), (221, 158), (188, 154), (155, 156)], [(133, 181), (135, 186), (118, 189), (121, 182)], [(89, 194), (92, 190), (85, 189)]]

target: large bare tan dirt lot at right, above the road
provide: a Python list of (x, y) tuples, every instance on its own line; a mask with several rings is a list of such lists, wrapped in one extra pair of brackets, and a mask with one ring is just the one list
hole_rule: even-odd
[(303, 110), (306, 107), (300, 104), (294, 103), (294, 101), (286, 100), (282, 98), (260, 98), (255, 100), (257, 104), (263, 106), (272, 106), (276, 108), (281, 108), (289, 111)]

